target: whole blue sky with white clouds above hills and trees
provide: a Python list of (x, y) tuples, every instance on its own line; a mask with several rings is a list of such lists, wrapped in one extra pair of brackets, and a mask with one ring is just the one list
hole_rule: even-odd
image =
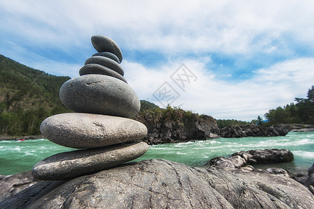
[(77, 77), (112, 38), (140, 99), (251, 121), (314, 84), (314, 1), (0, 1), (0, 54)]

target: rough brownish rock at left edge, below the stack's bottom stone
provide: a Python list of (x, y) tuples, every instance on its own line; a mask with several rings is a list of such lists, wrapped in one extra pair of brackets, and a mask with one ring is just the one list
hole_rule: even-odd
[(38, 180), (31, 176), (31, 171), (10, 176), (0, 175), (0, 201), (9, 199), (11, 196), (36, 183), (38, 183)]

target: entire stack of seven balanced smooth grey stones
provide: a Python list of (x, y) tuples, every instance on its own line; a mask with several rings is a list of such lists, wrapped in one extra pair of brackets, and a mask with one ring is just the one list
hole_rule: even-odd
[(128, 86), (121, 68), (122, 53), (112, 39), (92, 36), (98, 51), (80, 69), (80, 76), (65, 82), (60, 99), (75, 113), (46, 118), (40, 132), (61, 146), (84, 148), (52, 155), (32, 170), (39, 180), (75, 178), (140, 157), (148, 145), (139, 142), (147, 127), (130, 118), (140, 111), (140, 100)]

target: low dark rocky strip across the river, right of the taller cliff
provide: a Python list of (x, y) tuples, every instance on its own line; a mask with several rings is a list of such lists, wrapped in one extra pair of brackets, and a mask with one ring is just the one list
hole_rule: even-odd
[(276, 124), (272, 125), (271, 127), (250, 124), (224, 127), (220, 130), (219, 135), (225, 138), (277, 137), (285, 136), (289, 130), (289, 127), (284, 124)]

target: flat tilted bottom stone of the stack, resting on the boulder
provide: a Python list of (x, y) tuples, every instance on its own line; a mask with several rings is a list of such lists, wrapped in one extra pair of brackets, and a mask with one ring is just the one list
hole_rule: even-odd
[(137, 142), (59, 153), (35, 164), (32, 175), (38, 180), (75, 178), (134, 160), (148, 148), (145, 142)]

